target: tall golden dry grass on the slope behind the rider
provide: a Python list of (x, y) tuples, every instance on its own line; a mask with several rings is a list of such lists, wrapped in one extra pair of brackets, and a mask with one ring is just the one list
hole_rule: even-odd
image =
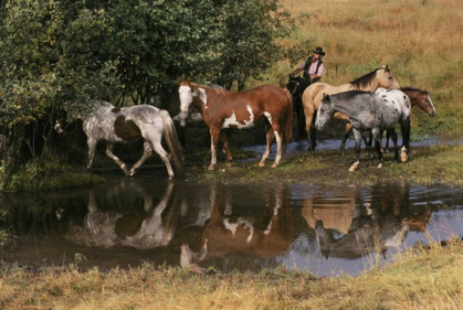
[[(414, 110), (420, 135), (463, 130), (463, 7), (460, 0), (283, 0), (298, 30), (282, 42), (323, 46), (323, 82), (339, 85), (389, 64), (401, 86), (427, 88), (434, 119)], [(303, 60), (301, 60), (303, 61)], [(264, 76), (277, 81), (295, 68), (281, 62)], [(259, 84), (261, 82), (256, 82)], [(417, 108), (418, 109), (418, 108)]]

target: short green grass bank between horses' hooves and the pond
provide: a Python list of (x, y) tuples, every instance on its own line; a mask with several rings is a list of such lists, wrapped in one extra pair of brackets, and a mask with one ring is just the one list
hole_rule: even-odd
[(391, 180), (406, 180), (418, 184), (446, 183), (463, 185), (463, 146), (440, 145), (412, 148), (412, 156), (406, 163), (393, 161), (393, 153), (385, 157), (386, 165), (377, 168), (378, 159), (369, 159), (364, 151), (360, 165), (355, 172), (348, 169), (354, 162), (352, 150), (341, 156), (338, 150), (316, 151), (283, 160), (272, 169), (267, 160), (264, 168), (259, 168), (256, 159), (252, 162), (235, 163), (228, 169), (220, 163), (215, 171), (204, 167), (194, 167), (187, 173), (187, 179), (199, 182), (219, 181), (223, 183), (309, 183), (309, 184), (360, 184), (371, 185)]

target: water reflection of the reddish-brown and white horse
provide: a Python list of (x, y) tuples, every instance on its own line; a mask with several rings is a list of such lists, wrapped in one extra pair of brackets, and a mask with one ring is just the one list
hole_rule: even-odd
[[(260, 258), (286, 253), (293, 243), (291, 207), (284, 186), (269, 193), (265, 214), (234, 215), (231, 190), (227, 188), (223, 202), (217, 200), (217, 188), (211, 186), (211, 213), (201, 232), (200, 249), (181, 247), (180, 263), (189, 266), (201, 260), (223, 257), (232, 253), (252, 254)], [(224, 205), (223, 214), (220, 205)]]

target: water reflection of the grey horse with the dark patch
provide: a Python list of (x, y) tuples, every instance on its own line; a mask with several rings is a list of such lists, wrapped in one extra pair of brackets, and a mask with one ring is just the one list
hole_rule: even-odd
[(88, 213), (84, 217), (83, 225), (70, 222), (65, 237), (88, 247), (128, 246), (150, 249), (167, 246), (173, 236), (178, 214), (175, 207), (170, 207), (165, 214), (172, 197), (173, 184), (167, 185), (164, 196), (156, 206), (152, 194), (148, 191), (133, 182), (130, 189), (143, 196), (145, 214), (99, 211), (95, 191), (91, 190)]

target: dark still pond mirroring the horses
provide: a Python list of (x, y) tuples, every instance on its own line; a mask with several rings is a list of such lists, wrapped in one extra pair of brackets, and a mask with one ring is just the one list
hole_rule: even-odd
[(15, 235), (0, 259), (81, 268), (178, 266), (222, 271), (284, 266), (358, 275), (430, 238), (463, 235), (463, 190), (376, 186), (227, 185), (109, 177), (86, 190), (3, 193), (0, 225)]

